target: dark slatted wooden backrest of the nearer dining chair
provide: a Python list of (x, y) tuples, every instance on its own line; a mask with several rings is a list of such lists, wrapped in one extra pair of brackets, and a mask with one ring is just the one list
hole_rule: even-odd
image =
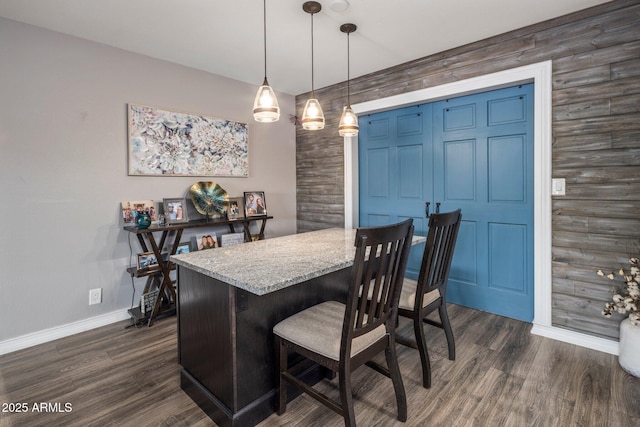
[(384, 324), (394, 310), (397, 314), (412, 237), (412, 219), (357, 230), (341, 351), (350, 351), (351, 340)]

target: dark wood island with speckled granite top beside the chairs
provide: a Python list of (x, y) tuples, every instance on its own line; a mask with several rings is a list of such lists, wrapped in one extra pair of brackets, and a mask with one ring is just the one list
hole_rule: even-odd
[[(414, 244), (424, 237), (414, 237)], [(345, 301), (355, 230), (328, 229), (175, 255), (182, 389), (219, 426), (275, 410), (279, 321)], [(310, 381), (322, 373), (308, 372)]]

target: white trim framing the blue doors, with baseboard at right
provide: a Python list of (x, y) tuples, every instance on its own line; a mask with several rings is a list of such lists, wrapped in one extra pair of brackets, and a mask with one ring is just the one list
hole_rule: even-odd
[[(534, 83), (534, 318), (532, 333), (617, 354), (617, 342), (551, 324), (551, 155), (552, 61), (543, 61), (440, 86), (353, 104), (356, 114), (371, 114), (453, 96)], [(344, 138), (345, 228), (358, 226), (358, 138)]]

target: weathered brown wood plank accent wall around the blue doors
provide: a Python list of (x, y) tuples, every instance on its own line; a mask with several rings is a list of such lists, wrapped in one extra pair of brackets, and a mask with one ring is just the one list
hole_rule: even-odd
[[(605, 338), (611, 283), (598, 268), (640, 253), (640, 0), (615, 0), (351, 81), (353, 104), (553, 61), (553, 325)], [(297, 127), (298, 232), (344, 225), (346, 85), (316, 90), (322, 131)], [(309, 94), (296, 97), (302, 115)], [(620, 317), (621, 318), (621, 317)], [(614, 319), (615, 320), (615, 319)]]

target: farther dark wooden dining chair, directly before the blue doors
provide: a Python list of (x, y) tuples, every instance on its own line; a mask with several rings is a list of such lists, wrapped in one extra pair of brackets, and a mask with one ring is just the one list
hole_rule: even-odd
[[(431, 387), (431, 363), (424, 335), (424, 323), (444, 329), (449, 360), (456, 359), (453, 330), (447, 314), (446, 291), (453, 251), (456, 246), (462, 214), (460, 209), (429, 216), (429, 231), (418, 280), (404, 279), (398, 304), (398, 315), (413, 320), (415, 340), (396, 335), (396, 342), (420, 353), (422, 386)], [(438, 310), (440, 321), (426, 316)]]

